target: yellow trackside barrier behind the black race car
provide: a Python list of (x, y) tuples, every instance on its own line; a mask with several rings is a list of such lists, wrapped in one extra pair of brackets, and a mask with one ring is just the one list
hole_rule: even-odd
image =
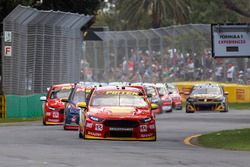
[[(201, 83), (216, 83), (209, 81), (201, 82), (176, 82), (175, 85), (182, 92), (189, 92), (194, 84)], [(224, 90), (228, 92), (228, 102), (229, 103), (250, 103), (250, 85), (239, 85), (239, 84), (228, 84), (228, 83), (218, 83), (224, 87)], [(185, 95), (182, 96), (183, 101), (185, 101)]]

